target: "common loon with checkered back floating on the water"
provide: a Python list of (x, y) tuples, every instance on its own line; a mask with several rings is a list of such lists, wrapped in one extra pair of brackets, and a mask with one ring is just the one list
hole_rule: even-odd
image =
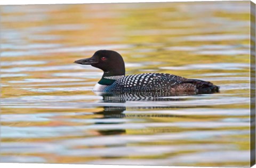
[(187, 79), (164, 73), (145, 73), (125, 76), (122, 56), (110, 50), (99, 50), (91, 58), (74, 63), (91, 65), (103, 70), (103, 76), (94, 86), (98, 92), (193, 92), (193, 94), (214, 93), (219, 86), (198, 79)]

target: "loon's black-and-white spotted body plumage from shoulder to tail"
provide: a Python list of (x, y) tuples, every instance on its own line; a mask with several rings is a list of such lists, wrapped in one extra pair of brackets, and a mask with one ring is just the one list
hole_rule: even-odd
[[(200, 87), (207, 86), (209, 91), (216, 89), (210, 82), (187, 79), (164, 73), (145, 73), (128, 75), (117, 79), (112, 85), (105, 87), (104, 92), (138, 92), (138, 91), (169, 91), (198, 92)], [(212, 86), (212, 88), (211, 88)]]

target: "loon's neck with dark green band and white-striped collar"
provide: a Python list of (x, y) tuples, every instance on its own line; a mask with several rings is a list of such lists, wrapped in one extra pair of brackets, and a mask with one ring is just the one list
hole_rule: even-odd
[(114, 74), (109, 71), (105, 71), (102, 75), (100, 81), (98, 84), (101, 85), (111, 85), (113, 84), (117, 79), (124, 77), (125, 74)]

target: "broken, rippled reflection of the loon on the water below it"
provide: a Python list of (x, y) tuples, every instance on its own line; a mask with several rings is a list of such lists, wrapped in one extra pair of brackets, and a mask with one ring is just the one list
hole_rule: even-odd
[[(103, 102), (107, 103), (107, 105), (103, 106), (103, 110), (97, 112), (95, 114), (102, 115), (101, 121), (97, 121), (95, 124), (122, 124), (125, 121), (121, 120), (118, 122), (103, 122), (103, 119), (115, 119), (115, 118), (167, 118), (167, 117), (177, 117), (178, 115), (170, 115), (170, 114), (129, 114), (126, 115), (123, 112), (126, 110), (125, 102), (126, 101), (159, 101), (159, 102), (171, 102), (171, 101), (181, 101), (185, 100), (184, 98), (175, 98), (177, 95), (173, 95), (171, 92), (107, 92), (107, 93), (100, 93), (99, 95), (102, 96)], [(177, 108), (173, 106), (149, 106), (146, 107), (131, 107), (133, 110), (139, 109), (171, 109)], [(186, 107), (182, 107), (186, 108)], [(179, 116), (182, 117), (182, 116)], [(97, 117), (97, 119), (99, 119)], [(162, 129), (155, 129), (155, 131), (162, 132)], [(98, 130), (98, 133), (101, 135), (113, 135), (113, 134), (124, 134), (126, 133), (126, 129), (106, 129), (106, 130)]]

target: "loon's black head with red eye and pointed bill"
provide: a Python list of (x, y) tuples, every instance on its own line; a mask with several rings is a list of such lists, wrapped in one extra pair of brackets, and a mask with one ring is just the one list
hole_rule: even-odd
[(91, 58), (75, 61), (82, 65), (91, 65), (103, 70), (109, 76), (125, 75), (125, 66), (122, 56), (111, 50), (99, 50)]

